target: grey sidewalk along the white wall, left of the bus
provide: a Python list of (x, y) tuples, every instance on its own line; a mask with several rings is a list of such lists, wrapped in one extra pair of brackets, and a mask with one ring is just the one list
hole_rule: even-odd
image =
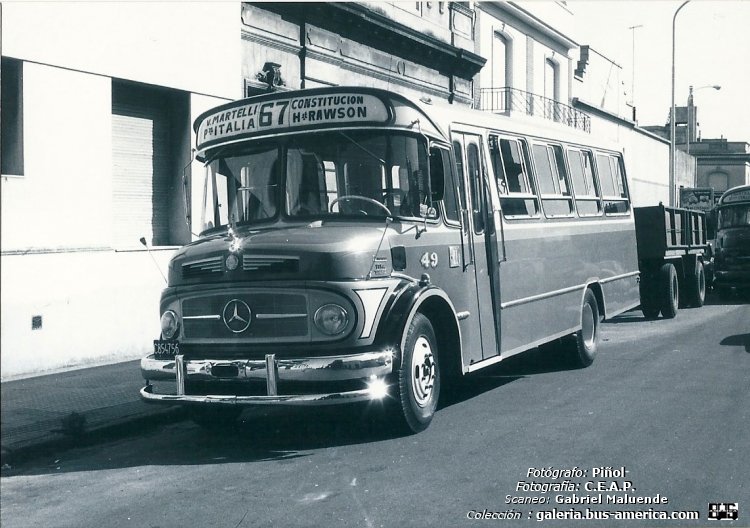
[(3, 382), (2, 464), (183, 416), (141, 401), (143, 384), (138, 361)]

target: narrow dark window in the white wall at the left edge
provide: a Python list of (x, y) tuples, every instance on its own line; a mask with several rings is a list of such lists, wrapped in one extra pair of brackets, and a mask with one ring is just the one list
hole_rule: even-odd
[(0, 136), (3, 176), (23, 176), (23, 63), (2, 58)]

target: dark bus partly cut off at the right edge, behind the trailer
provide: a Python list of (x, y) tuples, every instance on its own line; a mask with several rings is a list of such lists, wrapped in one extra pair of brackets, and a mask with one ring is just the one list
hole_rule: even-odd
[(750, 290), (750, 185), (726, 191), (716, 204), (714, 288), (721, 297)]

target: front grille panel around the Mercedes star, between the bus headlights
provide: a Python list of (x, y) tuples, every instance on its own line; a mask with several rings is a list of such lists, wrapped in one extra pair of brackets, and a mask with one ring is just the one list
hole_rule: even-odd
[[(225, 308), (234, 300), (250, 308), (250, 324), (240, 332), (230, 330), (225, 322), (225, 318), (231, 317), (234, 304), (228, 308), (229, 315), (224, 313)], [(186, 339), (299, 340), (310, 333), (307, 298), (298, 293), (223, 293), (185, 299), (182, 317)]]

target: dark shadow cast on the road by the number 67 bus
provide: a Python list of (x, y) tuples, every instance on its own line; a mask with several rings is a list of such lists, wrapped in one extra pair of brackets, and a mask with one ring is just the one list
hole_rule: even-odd
[[(517, 379), (572, 369), (554, 345), (509, 358), (446, 386), (441, 408), (470, 400)], [(438, 410), (438, 417), (440, 410)], [(430, 434), (428, 431), (422, 434)], [(322, 448), (382, 441), (411, 442), (388, 420), (381, 402), (317, 409), (249, 409), (232, 427), (205, 430), (190, 421), (143, 425), (109, 437), (83, 437), (66, 449), (48, 452), (4, 472), (47, 475), (150, 465), (211, 465), (284, 462)]]

